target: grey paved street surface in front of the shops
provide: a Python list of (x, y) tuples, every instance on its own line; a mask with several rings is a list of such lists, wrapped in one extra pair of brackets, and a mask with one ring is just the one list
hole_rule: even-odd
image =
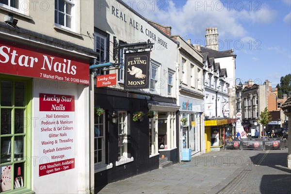
[(288, 148), (211, 151), (96, 188), (99, 194), (291, 194)]

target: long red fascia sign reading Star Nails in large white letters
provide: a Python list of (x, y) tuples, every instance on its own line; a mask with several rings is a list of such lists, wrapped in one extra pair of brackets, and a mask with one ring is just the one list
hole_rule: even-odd
[(89, 85), (89, 63), (3, 40), (0, 73)]

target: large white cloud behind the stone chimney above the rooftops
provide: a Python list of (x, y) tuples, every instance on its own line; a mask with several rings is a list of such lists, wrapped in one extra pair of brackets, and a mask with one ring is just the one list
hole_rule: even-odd
[[(237, 21), (236, 11), (228, 11), (227, 8), (221, 7), (223, 4), (219, 0), (188, 0), (181, 7), (177, 7), (175, 2), (177, 3), (178, 1), (174, 0), (135, 0), (134, 2), (136, 5), (139, 2), (140, 4), (147, 4), (146, 8), (148, 9), (146, 10), (137, 10), (133, 7), (142, 16), (162, 25), (172, 26), (172, 34), (179, 34), (182, 37), (190, 36), (190, 34), (195, 34), (196, 37), (203, 37), (206, 33), (206, 28), (210, 27), (218, 28), (220, 39), (226, 39), (226, 35), (227, 38), (230, 38), (242, 37), (247, 34), (242, 24)], [(153, 8), (154, 2), (156, 3), (155, 8)], [(158, 8), (160, 10), (157, 10)]]

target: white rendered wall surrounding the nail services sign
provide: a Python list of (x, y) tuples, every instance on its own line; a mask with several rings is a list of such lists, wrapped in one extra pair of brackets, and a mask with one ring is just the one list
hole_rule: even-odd
[[(39, 177), (39, 93), (75, 97), (75, 168)], [(61, 81), (33, 79), (32, 190), (36, 194), (89, 193), (89, 87)], [(53, 162), (53, 161), (52, 161)]]

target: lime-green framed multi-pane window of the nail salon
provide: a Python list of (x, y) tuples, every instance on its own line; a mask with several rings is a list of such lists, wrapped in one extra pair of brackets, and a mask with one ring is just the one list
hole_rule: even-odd
[(30, 99), (31, 81), (0, 79), (0, 193), (31, 188)]

